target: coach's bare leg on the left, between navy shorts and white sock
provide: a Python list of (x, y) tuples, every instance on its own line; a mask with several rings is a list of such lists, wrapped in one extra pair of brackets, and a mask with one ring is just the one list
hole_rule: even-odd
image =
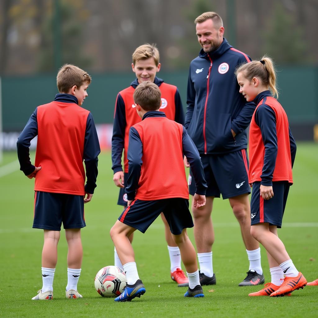
[[(214, 230), (211, 219), (214, 197), (206, 197), (205, 206), (198, 209), (193, 205), (192, 198), (192, 214), (194, 223), (194, 239), (197, 245), (198, 253), (207, 253), (212, 251), (214, 243)], [(188, 272), (189, 273), (189, 272)]]

